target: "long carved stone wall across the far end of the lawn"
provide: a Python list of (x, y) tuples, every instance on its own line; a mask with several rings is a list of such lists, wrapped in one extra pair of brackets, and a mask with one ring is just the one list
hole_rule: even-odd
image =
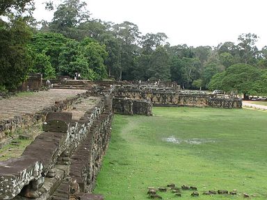
[(153, 106), (196, 106), (212, 108), (242, 108), (242, 100), (236, 97), (226, 97), (204, 94), (201, 92), (184, 93), (174, 88), (138, 87), (128, 85), (115, 88), (115, 97), (129, 99), (147, 99)]

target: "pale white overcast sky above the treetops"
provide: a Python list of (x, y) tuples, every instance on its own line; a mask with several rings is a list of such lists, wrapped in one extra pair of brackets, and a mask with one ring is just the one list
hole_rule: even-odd
[[(43, 1), (35, 0), (34, 17), (49, 21), (53, 14), (44, 10)], [(92, 18), (115, 24), (129, 21), (143, 35), (165, 33), (172, 46), (236, 43), (241, 33), (257, 34), (259, 49), (267, 45), (266, 0), (87, 0), (86, 3)]]

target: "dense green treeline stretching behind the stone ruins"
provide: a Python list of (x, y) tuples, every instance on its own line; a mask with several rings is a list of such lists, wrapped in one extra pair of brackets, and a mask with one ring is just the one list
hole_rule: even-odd
[[(63, 1), (52, 21), (37, 28), (31, 17), (33, 1), (17, 2), (0, 5), (0, 15), (9, 19), (0, 19), (2, 90), (16, 88), (30, 72), (44, 78), (79, 72), (89, 80), (160, 79), (185, 89), (267, 94), (267, 47), (257, 49), (257, 35), (242, 34), (238, 44), (217, 47), (170, 46), (165, 33), (142, 35), (131, 22), (91, 19), (86, 3), (79, 0)], [(47, 9), (54, 9), (53, 3), (47, 3)]]

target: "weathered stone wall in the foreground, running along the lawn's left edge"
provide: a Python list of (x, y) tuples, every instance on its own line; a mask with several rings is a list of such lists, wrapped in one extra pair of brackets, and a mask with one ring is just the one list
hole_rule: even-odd
[(0, 162), (0, 199), (76, 199), (91, 192), (110, 138), (111, 106), (106, 94), (79, 120), (49, 113), (44, 132), (22, 156)]

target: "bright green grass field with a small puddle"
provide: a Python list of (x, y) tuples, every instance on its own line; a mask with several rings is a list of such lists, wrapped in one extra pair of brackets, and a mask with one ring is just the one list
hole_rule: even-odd
[[(267, 113), (246, 109), (153, 108), (154, 116), (115, 115), (94, 193), (147, 199), (147, 187), (194, 185), (197, 199), (267, 199)], [(237, 190), (238, 195), (203, 195)], [(159, 192), (163, 199), (192, 199)]]

